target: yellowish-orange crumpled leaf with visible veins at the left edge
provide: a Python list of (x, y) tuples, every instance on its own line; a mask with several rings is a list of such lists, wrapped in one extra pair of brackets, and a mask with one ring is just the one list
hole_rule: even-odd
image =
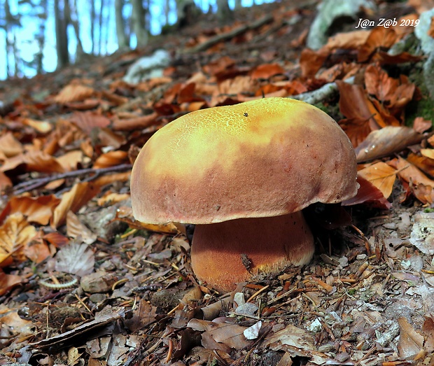
[(27, 223), (22, 213), (8, 216), (0, 227), (0, 267), (10, 265), (13, 260), (25, 260), (22, 248), (27, 246), (35, 235), (35, 227)]

